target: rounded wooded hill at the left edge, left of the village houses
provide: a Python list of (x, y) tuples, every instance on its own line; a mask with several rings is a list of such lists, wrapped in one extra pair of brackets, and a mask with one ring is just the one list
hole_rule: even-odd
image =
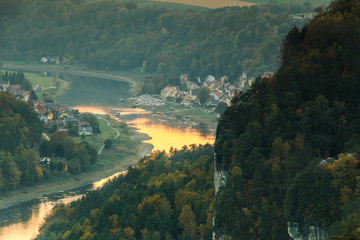
[(24, 101), (0, 91), (0, 195), (42, 177), (38, 166), (42, 123)]

